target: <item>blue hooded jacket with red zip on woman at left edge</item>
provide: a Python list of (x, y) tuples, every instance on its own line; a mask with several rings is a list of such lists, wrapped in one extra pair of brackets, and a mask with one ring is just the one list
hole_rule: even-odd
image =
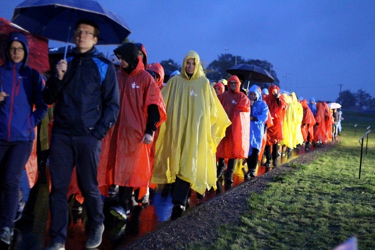
[[(25, 48), (23, 60), (10, 60), (7, 48), (12, 41), (19, 41)], [(47, 105), (43, 102), (44, 83), (40, 73), (27, 66), (27, 38), (13, 32), (5, 44), (5, 62), (0, 66), (2, 91), (9, 94), (0, 102), (0, 140), (32, 141), (33, 127), (44, 117)], [(35, 106), (35, 110), (33, 107)]]

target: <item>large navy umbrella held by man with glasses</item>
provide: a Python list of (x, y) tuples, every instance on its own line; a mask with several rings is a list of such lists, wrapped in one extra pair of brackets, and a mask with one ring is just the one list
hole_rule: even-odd
[(14, 8), (11, 22), (48, 39), (73, 43), (72, 27), (80, 19), (97, 24), (98, 45), (121, 44), (131, 32), (118, 15), (95, 0), (25, 0)]

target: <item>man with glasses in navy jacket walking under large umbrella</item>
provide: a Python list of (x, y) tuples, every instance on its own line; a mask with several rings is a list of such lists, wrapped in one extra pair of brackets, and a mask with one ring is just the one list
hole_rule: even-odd
[(55, 75), (43, 91), (46, 103), (56, 102), (49, 148), (51, 240), (46, 249), (64, 247), (68, 228), (66, 192), (74, 166), (88, 218), (85, 247), (95, 248), (101, 243), (104, 215), (97, 165), (101, 139), (117, 119), (119, 94), (113, 64), (94, 46), (98, 36), (96, 23), (78, 21), (73, 55), (57, 62)]

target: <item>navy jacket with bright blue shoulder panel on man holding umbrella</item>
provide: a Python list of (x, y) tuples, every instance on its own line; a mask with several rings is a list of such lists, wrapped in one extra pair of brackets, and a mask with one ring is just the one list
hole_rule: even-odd
[(85, 53), (74, 49), (67, 70), (59, 80), (49, 77), (43, 91), (53, 109), (53, 133), (92, 134), (102, 139), (115, 123), (119, 111), (119, 92), (113, 64), (95, 47)]

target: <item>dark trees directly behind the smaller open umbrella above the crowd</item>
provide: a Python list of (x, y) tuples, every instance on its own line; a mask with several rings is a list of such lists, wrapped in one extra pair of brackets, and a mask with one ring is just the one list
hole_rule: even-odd
[[(275, 81), (272, 84), (279, 85), (279, 80), (276, 77), (276, 72), (272, 69), (272, 64), (266, 60), (253, 60), (248, 59), (245, 60), (241, 56), (235, 56), (230, 53), (220, 54), (218, 58), (211, 63), (208, 64), (206, 70), (206, 76), (210, 81), (218, 81), (219, 79), (228, 79), (230, 74), (225, 72), (228, 68), (240, 63), (248, 63), (254, 64), (256, 66), (262, 67), (263, 69), (267, 70)], [(268, 87), (269, 83), (259, 83), (259, 82), (252, 82), (250, 81), (250, 86), (252, 84), (257, 84), (260, 88)], [(247, 85), (247, 84), (246, 84)]]

